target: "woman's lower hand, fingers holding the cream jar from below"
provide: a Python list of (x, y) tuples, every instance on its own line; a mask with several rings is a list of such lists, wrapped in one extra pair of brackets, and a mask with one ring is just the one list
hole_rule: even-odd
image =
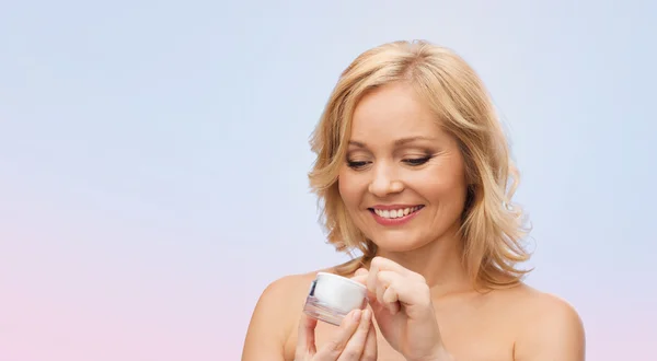
[(377, 360), (377, 333), (370, 310), (355, 310), (347, 314), (333, 339), (319, 351), (314, 337), (316, 324), (316, 319), (302, 314), (295, 361)]

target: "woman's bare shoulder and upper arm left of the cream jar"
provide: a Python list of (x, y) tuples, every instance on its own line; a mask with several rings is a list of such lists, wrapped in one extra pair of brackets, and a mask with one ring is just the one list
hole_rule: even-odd
[(269, 283), (251, 316), (242, 361), (284, 360), (286, 342), (296, 330), (310, 283), (319, 271), (289, 275)]

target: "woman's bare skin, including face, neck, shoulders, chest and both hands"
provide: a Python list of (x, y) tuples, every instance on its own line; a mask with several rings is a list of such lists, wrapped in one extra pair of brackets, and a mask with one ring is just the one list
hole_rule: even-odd
[[(585, 360), (584, 327), (566, 302), (523, 283), (472, 287), (458, 232), (463, 155), (407, 84), (359, 102), (338, 179), (348, 217), (379, 249), (348, 275), (368, 287), (373, 317), (315, 323), (302, 308), (316, 272), (284, 277), (257, 303), (243, 361)], [(407, 221), (391, 221), (401, 214)]]

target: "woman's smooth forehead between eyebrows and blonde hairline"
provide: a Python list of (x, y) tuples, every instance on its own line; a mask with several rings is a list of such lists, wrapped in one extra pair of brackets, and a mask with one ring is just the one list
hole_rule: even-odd
[(441, 132), (429, 106), (405, 83), (388, 84), (365, 95), (351, 119), (351, 138), (368, 143)]

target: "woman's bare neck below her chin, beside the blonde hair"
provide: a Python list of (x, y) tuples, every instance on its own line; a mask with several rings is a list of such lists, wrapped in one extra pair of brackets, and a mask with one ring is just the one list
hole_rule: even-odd
[(425, 246), (407, 252), (379, 249), (377, 256), (388, 258), (422, 275), (436, 298), (472, 290), (468, 270), (462, 263), (462, 246), (457, 232)]

